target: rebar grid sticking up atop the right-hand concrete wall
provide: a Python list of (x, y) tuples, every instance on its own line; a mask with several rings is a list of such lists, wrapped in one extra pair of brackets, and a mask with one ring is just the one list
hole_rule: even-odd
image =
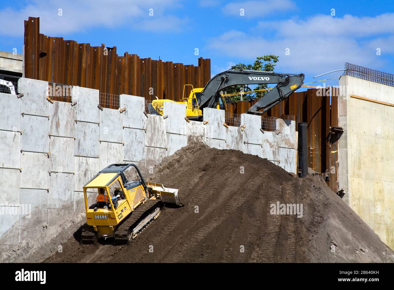
[(348, 62), (345, 63), (345, 68), (346, 71), (344, 75), (377, 82), (379, 84), (386, 84), (387, 86), (394, 86), (394, 75), (391, 73), (369, 69), (368, 67), (362, 67), (357, 64), (349, 64)]

